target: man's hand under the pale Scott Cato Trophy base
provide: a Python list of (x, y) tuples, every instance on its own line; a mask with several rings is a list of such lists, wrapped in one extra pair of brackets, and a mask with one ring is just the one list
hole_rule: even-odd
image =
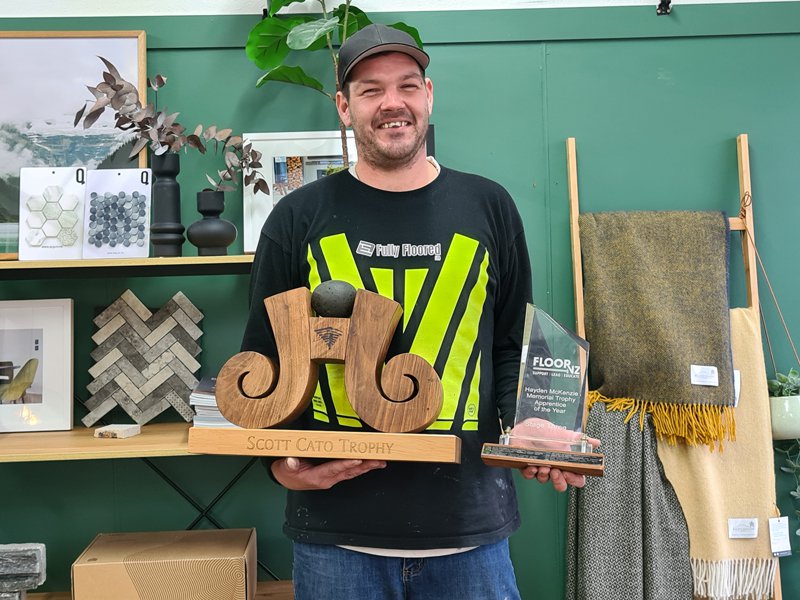
[(301, 458), (283, 458), (272, 463), (272, 474), (290, 490), (327, 490), (345, 479), (353, 479), (373, 469), (383, 469), (386, 461), (341, 459), (316, 464)]

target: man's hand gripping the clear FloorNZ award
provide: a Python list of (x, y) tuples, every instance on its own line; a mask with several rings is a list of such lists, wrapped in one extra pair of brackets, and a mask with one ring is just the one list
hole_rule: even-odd
[[(562, 429), (544, 419), (525, 419), (517, 423), (511, 430), (511, 437), (515, 443), (531, 448), (544, 450), (569, 450), (570, 444), (580, 441), (583, 437), (577, 431)], [(526, 440), (525, 438), (535, 438), (536, 441)], [(600, 445), (600, 440), (587, 438), (594, 450)], [(563, 441), (562, 441), (563, 440)], [(520, 468), (520, 472), (525, 479), (534, 477), (539, 483), (552, 482), (553, 488), (557, 492), (564, 492), (567, 486), (583, 487), (586, 485), (586, 476), (561, 469), (553, 469), (546, 466), (527, 466)]]

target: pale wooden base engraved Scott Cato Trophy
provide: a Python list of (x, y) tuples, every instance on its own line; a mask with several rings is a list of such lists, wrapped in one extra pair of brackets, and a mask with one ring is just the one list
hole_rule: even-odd
[(461, 439), (454, 435), (421, 433), (191, 427), (189, 452), (458, 464), (461, 462)]

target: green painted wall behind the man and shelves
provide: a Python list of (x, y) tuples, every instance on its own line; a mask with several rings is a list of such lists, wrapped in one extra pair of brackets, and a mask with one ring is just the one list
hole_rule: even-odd
[[(800, 189), (800, 3), (677, 6), (669, 17), (657, 17), (654, 6), (378, 17), (419, 28), (432, 56), (437, 158), (510, 190), (527, 228), (535, 300), (556, 318), (568, 324), (574, 319), (568, 136), (577, 139), (584, 210), (735, 214), (735, 139), (748, 133), (756, 239), (787, 321), (798, 322), (800, 284), (787, 273), (800, 250), (793, 223)], [(321, 95), (279, 84), (254, 88), (259, 73), (242, 51), (254, 22), (255, 17), (0, 19), (0, 29), (145, 29), (148, 73), (169, 77), (159, 105), (180, 111), (181, 122), (241, 131), (334, 129), (333, 107)], [(326, 67), (323, 56), (304, 64)], [(183, 159), (186, 224), (198, 217), (193, 195), (214, 166), (197, 155)], [(241, 221), (238, 194), (228, 194), (225, 215)], [(240, 241), (232, 251), (241, 251)], [(184, 252), (194, 250), (187, 244)], [(741, 263), (733, 254), (732, 290), (741, 304)], [(91, 318), (127, 288), (149, 306), (181, 290), (203, 310), (204, 370), (217, 369), (236, 352), (246, 276), (3, 282), (0, 298), (76, 299), (75, 393), (85, 399)], [(762, 284), (768, 330), (779, 368), (786, 370), (791, 355), (765, 291)], [(83, 414), (76, 410), (78, 418)], [(205, 503), (247, 460), (201, 456), (153, 463)], [(792, 515), (794, 531), (783, 479), (779, 474), (779, 502)], [(566, 496), (530, 482), (518, 487), (524, 524), (512, 538), (512, 552), (523, 598), (558, 600)], [(195, 515), (136, 459), (0, 465), (0, 489), (0, 543), (45, 542), (48, 590), (68, 588), (68, 566), (96, 532), (183, 528)], [(282, 504), (283, 493), (256, 465), (212, 512), (225, 526), (257, 527), (260, 559), (288, 578)], [(784, 597), (800, 597), (798, 558), (782, 559), (781, 570)]]

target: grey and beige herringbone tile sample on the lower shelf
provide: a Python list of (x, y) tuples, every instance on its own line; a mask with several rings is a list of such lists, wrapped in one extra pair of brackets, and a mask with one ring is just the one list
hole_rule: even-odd
[(100, 313), (92, 336), (97, 348), (89, 369), (94, 379), (87, 386), (90, 412), (83, 424), (91, 427), (117, 405), (140, 425), (170, 406), (191, 421), (189, 394), (200, 368), (195, 357), (200, 354), (202, 319), (182, 292), (153, 314), (127, 290)]

